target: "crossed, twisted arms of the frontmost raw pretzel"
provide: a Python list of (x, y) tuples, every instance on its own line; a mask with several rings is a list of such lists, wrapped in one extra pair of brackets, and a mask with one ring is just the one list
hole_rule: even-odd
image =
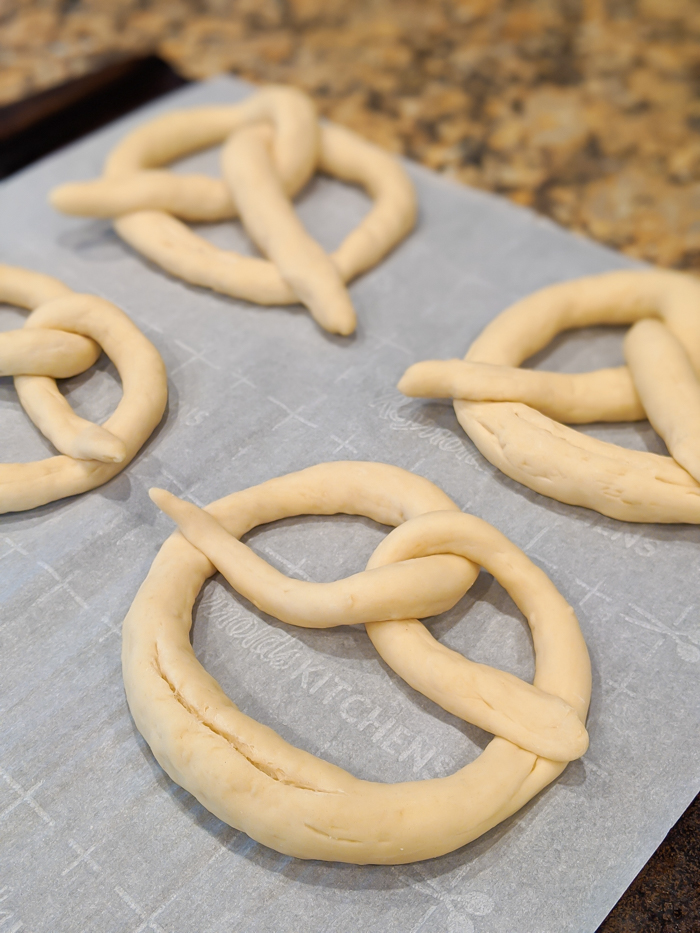
[[(503, 575), (499, 557), (515, 549), (486, 522), (454, 511), (417, 516), (388, 535), (362, 573), (310, 583), (271, 567), (196, 505), (162, 489), (150, 495), (263, 612), (303, 628), (364, 624), (386, 663), (448, 712), (556, 761), (578, 758), (588, 747), (586, 729), (568, 703), (446, 648), (418, 621), (451, 609), (476, 579), (478, 564)], [(528, 573), (544, 576), (525, 562)]]

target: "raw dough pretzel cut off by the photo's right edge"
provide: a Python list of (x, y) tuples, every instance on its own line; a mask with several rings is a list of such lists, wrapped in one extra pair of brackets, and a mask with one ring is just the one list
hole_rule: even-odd
[[(632, 324), (627, 366), (590, 373), (515, 367), (558, 333)], [(481, 453), (542, 495), (628, 522), (700, 522), (700, 283), (677, 272), (609, 272), (516, 302), (464, 360), (409, 367), (399, 389), (454, 398)], [(559, 421), (649, 418), (671, 457), (588, 437)], [(554, 419), (554, 420), (553, 420)]]

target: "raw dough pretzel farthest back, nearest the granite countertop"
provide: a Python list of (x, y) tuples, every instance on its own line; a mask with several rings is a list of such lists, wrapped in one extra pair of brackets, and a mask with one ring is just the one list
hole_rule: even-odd
[[(225, 181), (157, 169), (227, 139)], [(289, 200), (316, 168), (362, 185), (374, 200), (331, 256)], [(113, 150), (102, 178), (62, 185), (50, 200), (64, 213), (116, 218), (117, 233), (171, 275), (258, 304), (301, 301), (338, 334), (356, 325), (344, 283), (376, 265), (416, 219), (413, 186), (396, 159), (350, 130), (319, 125), (307, 95), (275, 86), (241, 104), (176, 111), (139, 127)], [(237, 213), (269, 260), (218, 249), (176, 219)]]

